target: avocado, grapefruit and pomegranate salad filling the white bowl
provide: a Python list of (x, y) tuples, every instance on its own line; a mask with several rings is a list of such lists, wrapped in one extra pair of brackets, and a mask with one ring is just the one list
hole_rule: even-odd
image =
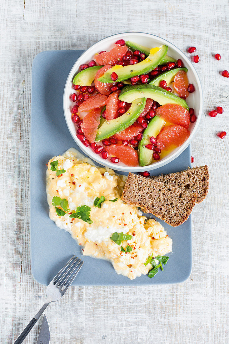
[(112, 163), (146, 166), (187, 140), (196, 116), (186, 99), (195, 88), (167, 51), (121, 39), (80, 66), (70, 109), (86, 147)]

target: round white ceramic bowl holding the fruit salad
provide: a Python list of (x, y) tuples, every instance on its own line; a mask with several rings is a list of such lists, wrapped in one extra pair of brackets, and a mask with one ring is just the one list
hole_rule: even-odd
[[(72, 88), (72, 81), (73, 77), (79, 72), (79, 67), (83, 63), (87, 63), (90, 60), (93, 60), (95, 53), (100, 52), (101, 50), (109, 51), (113, 44), (118, 41), (119, 39), (124, 39), (125, 41), (132, 41), (135, 43), (138, 43), (140, 45), (144, 45), (147, 47), (155, 47), (160, 46), (162, 44), (165, 44), (168, 46), (168, 55), (174, 57), (176, 60), (178, 58), (181, 58), (183, 61), (184, 67), (188, 68), (188, 80), (189, 83), (192, 83), (195, 86), (195, 92), (189, 94), (189, 97), (187, 98), (187, 103), (189, 108), (194, 108), (195, 115), (197, 117), (197, 120), (195, 123), (190, 123), (189, 130), (190, 130), (190, 136), (185, 141), (182, 146), (177, 147), (174, 149), (170, 154), (166, 155), (166, 157), (162, 158), (159, 161), (156, 161), (150, 165), (147, 166), (138, 166), (138, 167), (130, 167), (127, 165), (124, 165), (123, 163), (114, 164), (110, 161), (108, 158), (107, 160), (102, 159), (100, 154), (96, 154), (90, 147), (85, 147), (84, 144), (77, 138), (76, 136), (76, 127), (74, 123), (72, 122), (72, 114), (70, 109), (73, 106), (72, 101), (70, 100), (70, 95), (73, 93)], [(115, 169), (118, 171), (131, 171), (131, 172), (141, 172), (141, 171), (151, 171), (154, 169), (157, 169), (161, 166), (164, 166), (165, 164), (171, 162), (176, 157), (178, 157), (179, 154), (181, 154), (185, 148), (190, 144), (191, 140), (193, 139), (197, 128), (199, 126), (201, 114), (203, 112), (203, 91), (201, 88), (199, 77), (196, 73), (195, 68), (193, 67), (190, 60), (182, 53), (181, 50), (179, 50), (175, 45), (172, 43), (162, 39), (161, 37), (157, 37), (155, 35), (151, 35), (149, 33), (142, 33), (142, 32), (125, 32), (125, 33), (119, 33), (116, 35), (112, 35), (109, 37), (106, 37), (102, 39), (101, 41), (95, 43), (92, 45), (89, 49), (87, 49), (75, 62), (74, 66), (72, 67), (64, 89), (64, 115), (65, 120), (68, 126), (68, 129), (75, 140), (75, 142), (78, 144), (78, 146), (81, 148), (82, 151), (85, 152), (86, 155), (88, 155), (90, 158), (94, 159), (98, 163), (108, 166), (111, 169)]]

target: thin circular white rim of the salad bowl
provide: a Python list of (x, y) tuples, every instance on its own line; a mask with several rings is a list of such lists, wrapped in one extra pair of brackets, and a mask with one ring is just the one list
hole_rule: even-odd
[[(69, 84), (69, 79), (72, 80), (72, 74), (75, 70), (75, 65), (78, 63), (79, 58), (81, 58), (82, 56), (86, 56), (88, 50), (90, 50), (92, 47), (95, 47), (98, 43), (100, 43), (101, 41), (107, 40), (110, 37), (119, 37), (120, 35), (126, 35), (126, 34), (138, 34), (138, 35), (143, 35), (143, 36), (150, 36), (155, 37), (157, 39), (160, 39), (162, 41), (162, 44), (166, 44), (168, 46), (170, 46), (171, 48), (173, 48), (174, 50), (176, 50), (181, 56), (182, 56), (182, 60), (185, 61), (185, 63), (188, 65), (188, 67), (192, 70), (194, 76), (195, 76), (195, 81), (198, 84), (198, 88), (199, 88), (199, 98), (200, 98), (200, 105), (199, 105), (199, 111), (198, 111), (198, 116), (197, 116), (197, 120), (195, 122), (195, 126), (193, 128), (192, 133), (190, 134), (189, 138), (182, 144), (182, 146), (179, 147), (179, 149), (174, 152), (171, 156), (165, 158), (164, 160), (159, 160), (157, 162), (154, 162), (153, 164), (150, 165), (146, 165), (146, 166), (120, 166), (119, 164), (114, 164), (112, 162), (109, 162), (107, 160), (104, 160), (100, 157), (100, 155), (98, 154), (98, 157), (90, 154), (90, 151), (87, 150), (88, 147), (85, 147), (84, 144), (77, 138), (76, 134), (73, 133), (72, 128), (70, 127), (69, 124), (69, 111), (67, 111), (67, 105), (65, 104), (65, 98), (66, 98), (66, 93), (67, 93), (67, 87)], [(167, 44), (168, 43), (168, 44)], [(71, 68), (68, 77), (66, 79), (66, 83), (65, 83), (65, 87), (64, 87), (64, 93), (63, 93), (63, 109), (64, 109), (64, 117), (65, 117), (65, 121), (68, 127), (68, 130), (70, 132), (70, 134), (72, 135), (72, 138), (74, 139), (74, 141), (76, 142), (76, 144), (79, 146), (79, 148), (87, 155), (89, 156), (92, 160), (98, 162), (99, 164), (111, 168), (113, 170), (117, 170), (117, 171), (125, 171), (125, 172), (142, 172), (145, 170), (148, 171), (152, 171), (155, 170), (157, 168), (160, 168), (168, 163), (170, 163), (171, 161), (173, 161), (174, 159), (176, 159), (190, 144), (190, 142), (192, 141), (198, 127), (199, 127), (199, 123), (203, 114), (203, 104), (204, 104), (204, 96), (203, 96), (203, 88), (199, 79), (199, 76), (196, 72), (195, 67), (193, 66), (193, 64), (189, 61), (188, 57), (177, 47), (175, 46), (173, 43), (165, 40), (164, 38), (160, 37), (160, 36), (156, 36), (153, 35), (151, 33), (146, 33), (146, 32), (138, 32), (138, 31), (130, 31), (130, 32), (121, 32), (121, 33), (117, 33), (117, 34), (113, 34), (107, 37), (102, 38), (101, 40), (97, 41), (96, 43), (92, 44), (88, 49), (86, 49), (76, 60), (76, 62), (74, 63), (73, 67)], [(70, 116), (71, 118), (71, 116)], [(93, 151), (91, 153), (94, 153)]]

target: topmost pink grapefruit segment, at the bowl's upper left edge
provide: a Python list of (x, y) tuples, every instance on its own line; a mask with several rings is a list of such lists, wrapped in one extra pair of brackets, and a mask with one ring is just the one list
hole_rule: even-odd
[(114, 47), (109, 51), (105, 53), (101, 53), (98, 55), (95, 55), (95, 60), (100, 66), (105, 65), (115, 65), (115, 62), (119, 59), (121, 59), (126, 53), (127, 53), (127, 46), (121, 46), (119, 44), (115, 44)]

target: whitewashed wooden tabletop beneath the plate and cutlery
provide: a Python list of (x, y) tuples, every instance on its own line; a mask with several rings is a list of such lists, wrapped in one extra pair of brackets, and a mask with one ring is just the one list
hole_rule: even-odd
[[(227, 0), (2, 0), (0, 2), (1, 343), (12, 343), (40, 308), (45, 287), (30, 269), (31, 65), (43, 50), (85, 49), (118, 32), (159, 35), (184, 52), (196, 46), (204, 115), (192, 142), (207, 164), (207, 199), (193, 211), (193, 271), (183, 284), (70, 288), (46, 310), (51, 343), (219, 343), (228, 338)], [(221, 54), (221, 61), (213, 58)], [(222, 115), (208, 112), (221, 105)], [(226, 130), (221, 140), (216, 133)], [(176, 229), (174, 229), (176, 230)], [(25, 343), (35, 343), (35, 326)]]

